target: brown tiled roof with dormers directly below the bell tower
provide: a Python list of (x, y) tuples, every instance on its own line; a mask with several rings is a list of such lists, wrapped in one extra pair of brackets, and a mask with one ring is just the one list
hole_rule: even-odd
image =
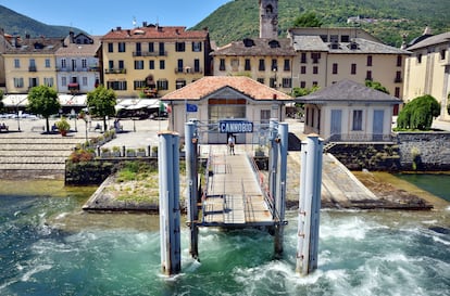
[(290, 44), (290, 39), (267, 39), (246, 38), (241, 41), (234, 41), (222, 48), (217, 48), (211, 55), (234, 55), (234, 56), (295, 56), (296, 51)]

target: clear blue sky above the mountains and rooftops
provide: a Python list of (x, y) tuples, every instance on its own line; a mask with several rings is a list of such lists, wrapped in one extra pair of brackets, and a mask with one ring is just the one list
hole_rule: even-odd
[(47, 25), (72, 26), (89, 35), (142, 22), (192, 27), (230, 0), (0, 0), (0, 4)]

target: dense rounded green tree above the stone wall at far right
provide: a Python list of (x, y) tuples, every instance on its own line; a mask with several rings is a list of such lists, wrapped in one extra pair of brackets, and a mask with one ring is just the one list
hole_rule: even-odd
[(397, 118), (397, 127), (411, 130), (429, 130), (433, 119), (440, 115), (440, 104), (429, 94), (407, 103)]

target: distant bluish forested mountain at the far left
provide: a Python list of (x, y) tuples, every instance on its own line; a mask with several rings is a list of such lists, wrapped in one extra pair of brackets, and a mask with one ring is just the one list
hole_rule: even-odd
[(8, 34), (23, 37), (27, 34), (30, 37), (65, 37), (71, 29), (75, 33), (80, 31), (78, 28), (67, 26), (46, 25), (2, 5), (0, 5), (0, 28)]

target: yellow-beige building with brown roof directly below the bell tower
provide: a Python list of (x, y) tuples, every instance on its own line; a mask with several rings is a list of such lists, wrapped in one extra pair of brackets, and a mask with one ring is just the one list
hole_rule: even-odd
[(287, 38), (246, 38), (217, 48), (214, 76), (248, 76), (267, 87), (290, 93), (296, 52)]

